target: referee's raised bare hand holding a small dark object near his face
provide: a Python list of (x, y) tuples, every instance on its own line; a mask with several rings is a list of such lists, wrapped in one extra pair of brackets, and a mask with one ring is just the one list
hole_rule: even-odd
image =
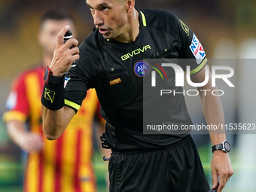
[[(70, 26), (65, 26), (57, 35), (56, 48), (54, 50), (53, 60), (50, 63), (50, 71), (54, 76), (64, 75), (69, 71), (72, 62), (79, 59), (78, 40), (70, 38), (64, 44), (64, 35), (70, 29)], [(74, 46), (72, 49), (69, 47)]]

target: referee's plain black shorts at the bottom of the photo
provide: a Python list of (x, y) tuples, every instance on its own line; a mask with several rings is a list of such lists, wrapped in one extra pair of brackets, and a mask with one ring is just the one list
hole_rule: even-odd
[(111, 154), (110, 192), (209, 192), (203, 166), (188, 136), (172, 147)]

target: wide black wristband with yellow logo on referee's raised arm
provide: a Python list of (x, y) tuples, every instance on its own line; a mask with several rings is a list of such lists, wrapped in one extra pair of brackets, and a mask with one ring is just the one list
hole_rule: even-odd
[(41, 104), (50, 110), (58, 110), (64, 106), (65, 93), (63, 75), (63, 81), (58, 84), (44, 84)]

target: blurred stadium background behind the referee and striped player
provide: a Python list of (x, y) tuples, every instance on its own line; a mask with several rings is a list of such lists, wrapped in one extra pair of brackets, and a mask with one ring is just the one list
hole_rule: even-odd
[[(0, 116), (5, 111), (11, 81), (23, 69), (41, 61), (38, 45), (38, 21), (49, 8), (68, 8), (76, 19), (81, 42), (93, 28), (93, 19), (84, 0), (1, 0), (0, 2)], [(256, 58), (256, 2), (253, 0), (136, 0), (136, 8), (170, 11), (197, 34), (209, 59)], [(255, 66), (237, 62), (236, 88), (223, 97), (226, 123), (255, 123)], [(227, 97), (228, 96), (228, 97)], [(199, 98), (187, 99), (194, 122), (203, 122)], [(235, 132), (236, 133), (236, 132)], [(194, 135), (203, 166), (211, 183), (210, 141), (207, 135)], [(233, 149), (230, 158), (234, 175), (224, 191), (253, 192), (256, 178), (256, 135), (229, 134)], [(102, 161), (97, 145), (93, 167), (99, 191), (105, 190), (107, 164)], [(9, 139), (0, 120), (0, 192), (21, 191), (23, 161), (21, 151)]]

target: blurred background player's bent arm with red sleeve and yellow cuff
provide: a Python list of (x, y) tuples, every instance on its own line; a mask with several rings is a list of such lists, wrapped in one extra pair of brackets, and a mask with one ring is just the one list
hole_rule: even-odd
[(43, 141), (40, 133), (26, 130), (26, 120), (29, 117), (29, 101), (26, 95), (26, 73), (19, 75), (12, 84), (11, 92), (6, 102), (2, 119), (6, 124), (10, 139), (23, 151), (28, 153), (41, 151)]

